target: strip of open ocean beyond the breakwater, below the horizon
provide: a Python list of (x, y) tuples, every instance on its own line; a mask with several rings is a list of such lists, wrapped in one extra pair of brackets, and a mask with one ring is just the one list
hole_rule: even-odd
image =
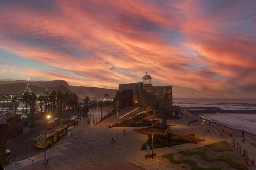
[(256, 110), (256, 99), (174, 98), (173, 105), (183, 107), (219, 107), (224, 110)]

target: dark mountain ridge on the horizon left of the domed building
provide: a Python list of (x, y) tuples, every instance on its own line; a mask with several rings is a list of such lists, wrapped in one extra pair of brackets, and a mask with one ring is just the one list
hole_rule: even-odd
[[(0, 94), (17, 94), (25, 89), (27, 81), (24, 80), (5, 80), (0, 81)], [(61, 91), (62, 93), (76, 93), (79, 99), (83, 99), (86, 96), (90, 98), (102, 99), (104, 94), (109, 94), (109, 98), (114, 98), (116, 90), (98, 88), (98, 87), (84, 87), (84, 86), (70, 86), (66, 81), (53, 80), (53, 81), (35, 81), (29, 82), (29, 86), (32, 92), (36, 95), (41, 94), (46, 88), (52, 91)]]

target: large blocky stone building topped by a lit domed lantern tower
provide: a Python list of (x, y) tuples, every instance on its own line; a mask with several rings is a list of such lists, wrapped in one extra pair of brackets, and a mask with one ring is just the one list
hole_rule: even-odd
[(143, 82), (119, 84), (118, 92), (122, 95), (125, 106), (138, 106), (145, 110), (147, 106), (163, 107), (173, 105), (172, 86), (153, 86), (152, 77), (143, 76)]

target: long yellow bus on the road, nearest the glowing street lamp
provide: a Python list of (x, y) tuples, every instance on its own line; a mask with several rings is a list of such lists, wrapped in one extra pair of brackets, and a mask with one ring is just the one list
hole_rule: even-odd
[(46, 143), (45, 143), (45, 134), (41, 134), (36, 138), (36, 148), (45, 148), (49, 147), (57, 140), (61, 139), (67, 133), (68, 125), (60, 125), (54, 131), (46, 133)]

